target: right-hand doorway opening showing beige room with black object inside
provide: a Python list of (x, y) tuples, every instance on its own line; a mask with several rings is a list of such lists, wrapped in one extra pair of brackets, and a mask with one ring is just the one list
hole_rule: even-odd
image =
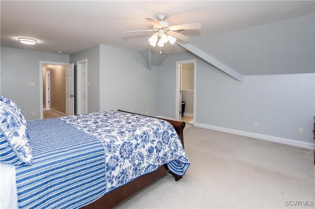
[(176, 120), (193, 125), (196, 101), (196, 60), (176, 62)]

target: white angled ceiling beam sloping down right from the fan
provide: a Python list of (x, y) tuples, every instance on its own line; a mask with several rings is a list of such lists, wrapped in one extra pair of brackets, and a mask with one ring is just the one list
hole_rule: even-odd
[(188, 42), (177, 40), (176, 43), (184, 47), (185, 49), (189, 50), (189, 52), (197, 55), (198, 57), (208, 62), (209, 64), (213, 65), (214, 67), (218, 68), (223, 73), (229, 75), (232, 78), (237, 79), (238, 81), (243, 82), (243, 76), (241, 74), (231, 69), (230, 67), (224, 65), (222, 62), (220, 62), (218, 59), (214, 58), (213, 56), (210, 56), (206, 52), (199, 50), (198, 48), (189, 44)]

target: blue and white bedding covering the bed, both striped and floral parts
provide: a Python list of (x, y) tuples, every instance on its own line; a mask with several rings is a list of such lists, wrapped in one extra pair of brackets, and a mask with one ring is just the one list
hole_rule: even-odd
[(168, 164), (189, 160), (166, 121), (103, 111), (28, 122), (32, 166), (16, 166), (19, 208), (80, 208)]

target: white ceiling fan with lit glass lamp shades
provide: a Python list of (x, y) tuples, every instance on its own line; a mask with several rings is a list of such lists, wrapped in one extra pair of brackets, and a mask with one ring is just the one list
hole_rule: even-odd
[[(201, 25), (199, 23), (170, 26), (168, 22), (164, 21), (165, 17), (166, 17), (165, 15), (158, 15), (158, 20), (155, 18), (146, 17), (145, 19), (153, 25), (153, 29), (132, 30), (125, 31), (123, 33), (139, 31), (157, 31), (149, 38), (149, 43), (153, 47), (156, 47), (156, 45), (158, 44), (158, 46), (161, 48), (167, 42), (174, 44), (177, 38), (183, 41), (189, 40), (188, 36), (183, 35), (178, 31), (201, 28)], [(159, 53), (161, 53), (161, 51)]]

